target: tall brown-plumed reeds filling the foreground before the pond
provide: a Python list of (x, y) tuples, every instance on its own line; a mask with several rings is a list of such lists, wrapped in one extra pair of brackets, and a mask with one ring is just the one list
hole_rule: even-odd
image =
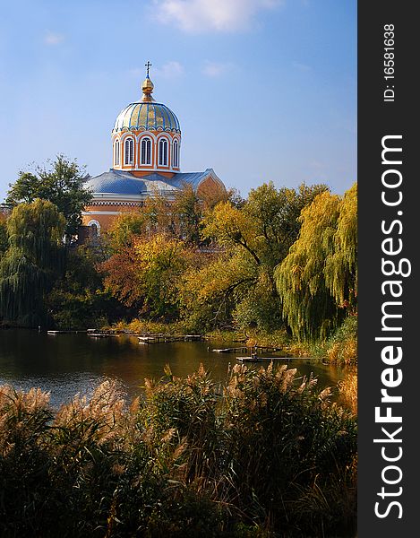
[(0, 387), (0, 535), (351, 536), (356, 419), (295, 369), (166, 369), (53, 413)]

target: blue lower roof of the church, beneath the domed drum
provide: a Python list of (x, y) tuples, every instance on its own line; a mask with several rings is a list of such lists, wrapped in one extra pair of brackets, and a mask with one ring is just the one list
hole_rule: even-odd
[(182, 189), (185, 184), (197, 189), (201, 181), (210, 175), (217, 178), (212, 169), (206, 169), (203, 172), (179, 172), (170, 179), (156, 172), (136, 178), (130, 172), (109, 169), (108, 172), (90, 178), (85, 187), (93, 194), (150, 195), (156, 190), (175, 192)]

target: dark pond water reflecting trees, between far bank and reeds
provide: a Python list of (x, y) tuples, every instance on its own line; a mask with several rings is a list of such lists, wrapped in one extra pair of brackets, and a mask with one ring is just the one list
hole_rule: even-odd
[[(29, 330), (0, 330), (0, 385), (24, 390), (39, 386), (51, 392), (57, 407), (73, 395), (91, 395), (107, 378), (120, 381), (123, 392), (132, 399), (141, 392), (145, 377), (158, 379), (169, 364), (174, 375), (186, 377), (200, 363), (215, 381), (223, 382), (227, 370), (236, 364), (235, 353), (214, 353), (226, 347), (217, 342), (175, 342), (140, 345), (136, 337), (96, 339), (87, 334), (38, 333)], [(241, 355), (244, 353), (241, 353)], [(308, 360), (288, 363), (301, 375), (311, 372), (320, 386), (336, 386), (343, 372), (334, 367), (310, 364)], [(250, 365), (265, 366), (265, 363)]]

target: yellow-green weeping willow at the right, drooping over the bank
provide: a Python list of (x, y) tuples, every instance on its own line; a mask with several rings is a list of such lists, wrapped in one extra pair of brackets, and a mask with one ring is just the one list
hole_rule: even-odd
[(275, 270), (283, 316), (299, 339), (322, 339), (356, 308), (356, 185), (316, 196)]

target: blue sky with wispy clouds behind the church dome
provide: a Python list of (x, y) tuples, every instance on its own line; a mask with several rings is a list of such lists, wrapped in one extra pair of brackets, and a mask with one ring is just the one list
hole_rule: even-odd
[(107, 171), (148, 60), (182, 171), (244, 196), (356, 181), (356, 0), (21, 0), (0, 20), (0, 202), (59, 153)]

